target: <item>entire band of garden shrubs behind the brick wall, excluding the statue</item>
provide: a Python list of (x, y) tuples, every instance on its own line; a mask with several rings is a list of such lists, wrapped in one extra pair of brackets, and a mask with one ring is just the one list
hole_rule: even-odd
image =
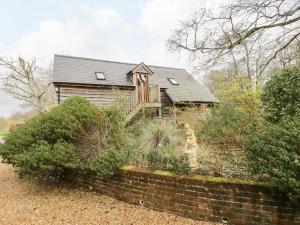
[(122, 101), (96, 108), (80, 97), (7, 134), (0, 155), (22, 177), (59, 180), (72, 169), (102, 178), (131, 164), (176, 174), (268, 181), (299, 199), (299, 77), (299, 68), (283, 70), (263, 88), (262, 101), (260, 91), (248, 89), (247, 83), (228, 82), (218, 92), (221, 102), (201, 116), (194, 116), (194, 109), (180, 110), (182, 121), (194, 119), (196, 171), (183, 151), (184, 129), (174, 121), (140, 118), (126, 127)]

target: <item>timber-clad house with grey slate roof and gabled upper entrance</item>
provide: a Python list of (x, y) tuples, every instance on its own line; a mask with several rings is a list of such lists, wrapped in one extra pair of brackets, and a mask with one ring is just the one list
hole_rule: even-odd
[(78, 95), (97, 106), (110, 106), (122, 94), (129, 119), (142, 108), (157, 108), (161, 116), (168, 115), (172, 105), (192, 103), (203, 108), (218, 101), (186, 70), (144, 63), (55, 55), (53, 84), (58, 104)]

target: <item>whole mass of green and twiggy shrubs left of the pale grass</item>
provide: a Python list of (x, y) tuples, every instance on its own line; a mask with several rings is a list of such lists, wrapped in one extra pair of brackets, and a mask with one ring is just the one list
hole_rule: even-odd
[(129, 158), (123, 121), (118, 106), (98, 110), (71, 97), (12, 131), (0, 156), (23, 177), (58, 180), (66, 169), (109, 175)]

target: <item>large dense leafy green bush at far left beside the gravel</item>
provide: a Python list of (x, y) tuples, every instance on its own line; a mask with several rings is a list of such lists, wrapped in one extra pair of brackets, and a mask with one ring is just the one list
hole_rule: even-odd
[(0, 147), (6, 162), (21, 176), (59, 178), (80, 164), (76, 142), (97, 125), (97, 109), (81, 97), (65, 100), (12, 131)]

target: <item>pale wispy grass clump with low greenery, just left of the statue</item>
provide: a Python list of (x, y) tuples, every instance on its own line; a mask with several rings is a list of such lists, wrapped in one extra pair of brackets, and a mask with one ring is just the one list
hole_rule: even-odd
[(191, 172), (188, 158), (183, 153), (184, 134), (174, 124), (140, 120), (130, 130), (137, 137), (134, 140), (135, 165), (178, 174)]

